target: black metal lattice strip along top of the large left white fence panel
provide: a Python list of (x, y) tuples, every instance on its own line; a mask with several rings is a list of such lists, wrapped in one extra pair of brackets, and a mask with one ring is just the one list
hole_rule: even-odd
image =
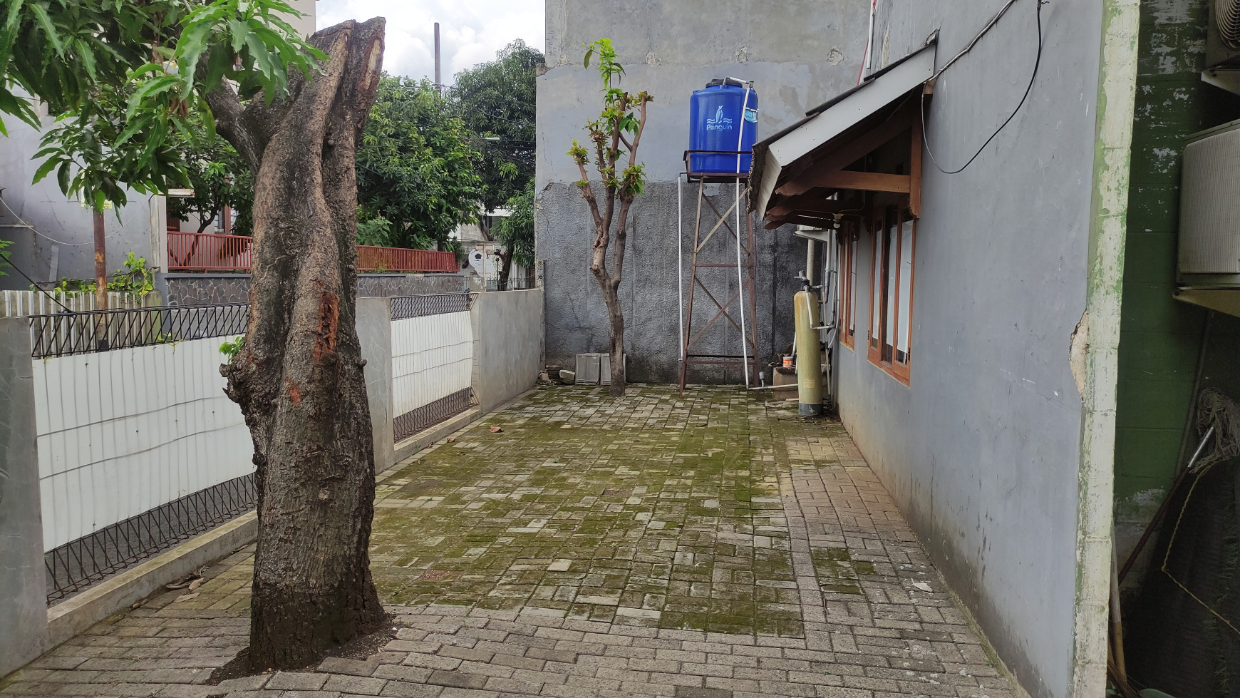
[(242, 335), (248, 320), (246, 304), (31, 315), (31, 356), (48, 358)]

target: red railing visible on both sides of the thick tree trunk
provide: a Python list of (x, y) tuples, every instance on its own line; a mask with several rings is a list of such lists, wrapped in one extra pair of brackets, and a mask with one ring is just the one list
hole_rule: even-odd
[[(253, 238), (167, 232), (170, 272), (246, 272), (253, 263)], [(357, 245), (358, 272), (460, 272), (456, 255), (433, 249)]]

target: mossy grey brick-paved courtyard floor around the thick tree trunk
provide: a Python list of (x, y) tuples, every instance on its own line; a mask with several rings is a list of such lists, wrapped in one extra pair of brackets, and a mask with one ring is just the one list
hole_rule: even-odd
[(0, 696), (1013, 696), (847, 431), (789, 404), (537, 389), (379, 476), (377, 655), (206, 686), (246, 646), (247, 549)]

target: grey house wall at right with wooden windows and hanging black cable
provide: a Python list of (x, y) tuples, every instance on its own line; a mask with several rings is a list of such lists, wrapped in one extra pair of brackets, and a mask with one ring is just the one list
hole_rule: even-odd
[[(887, 2), (875, 68), (935, 29), (941, 66), (1001, 5)], [(838, 382), (844, 425), (935, 564), (1022, 686), (1059, 698), (1076, 661), (1083, 408), (1069, 347), (1090, 272), (1100, 4), (1045, 5), (1043, 26), (1042, 67), (1012, 124), (962, 174), (925, 161), (910, 386), (866, 356), (868, 233), (857, 351), (838, 350)], [(926, 113), (944, 167), (1016, 107), (1035, 42), (1034, 4), (1017, 2), (944, 73)]]

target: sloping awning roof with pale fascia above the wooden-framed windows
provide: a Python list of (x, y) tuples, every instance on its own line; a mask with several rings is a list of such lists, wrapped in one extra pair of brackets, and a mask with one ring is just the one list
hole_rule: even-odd
[(764, 217), (785, 170), (815, 151), (839, 145), (841, 136), (856, 134), (856, 126), (879, 117), (900, 98), (934, 76), (935, 45), (931, 38), (920, 51), (905, 56), (869, 76), (859, 86), (806, 113), (806, 118), (754, 144), (749, 175), (750, 207)]

